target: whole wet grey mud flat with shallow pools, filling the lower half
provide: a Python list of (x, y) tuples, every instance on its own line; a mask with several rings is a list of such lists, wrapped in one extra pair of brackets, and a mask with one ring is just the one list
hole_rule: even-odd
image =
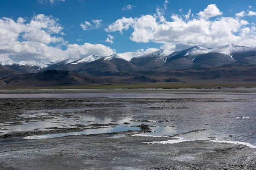
[(254, 170), (253, 95), (2, 98), (0, 169)]

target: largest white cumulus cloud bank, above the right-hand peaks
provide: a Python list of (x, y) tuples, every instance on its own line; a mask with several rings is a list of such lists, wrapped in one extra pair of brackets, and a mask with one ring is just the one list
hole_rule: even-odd
[[(157, 42), (164, 45), (217, 47), (230, 43), (248, 46), (256, 44), (254, 33), (246, 20), (239, 17), (210, 19), (218, 15), (222, 15), (222, 12), (217, 6), (209, 5), (204, 11), (198, 13), (199, 17), (188, 18), (188, 20), (179, 14), (173, 14), (171, 16), (172, 21), (161, 18), (163, 15), (159, 17), (157, 13), (135, 18), (122, 17), (109, 25), (105, 31), (122, 33), (122, 31), (131, 28), (133, 31), (130, 40), (144, 43)], [(244, 31), (244, 28), (249, 28), (250, 31)], [(243, 35), (247, 35), (241, 36), (241, 32)]]

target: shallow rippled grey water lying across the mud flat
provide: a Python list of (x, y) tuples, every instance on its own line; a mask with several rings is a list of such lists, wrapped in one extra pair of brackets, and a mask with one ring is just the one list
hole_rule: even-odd
[[(53, 138), (79, 134), (112, 133), (126, 130), (139, 130), (141, 124), (150, 125), (154, 130), (145, 134), (149, 136), (170, 136), (186, 133), (195, 129), (207, 129), (197, 133), (180, 135), (183, 140), (224, 140), (230, 142), (247, 142), (256, 145), (256, 102), (238, 101), (223, 102), (221, 99), (256, 99), (255, 94), (139, 94), (139, 93), (90, 93), (90, 94), (14, 94), (5, 97), (28, 98), (54, 98), (54, 97), (109, 97), (109, 98), (195, 98), (195, 99), (220, 99), (218, 102), (104, 102), (116, 104), (117, 107), (102, 108), (76, 108), (76, 109), (51, 109), (24, 111), (20, 118), (32, 118), (29, 122), (17, 122), (22, 125), (12, 125), (12, 122), (0, 124), (0, 131), (45, 130), (46, 127), (70, 128), (80, 124), (91, 128), (91, 124), (118, 124), (117, 126), (102, 127), (99, 129), (85, 129), (81, 132), (49, 134), (44, 136), (27, 137), (26, 139)], [(3, 95), (0, 95), (3, 97)], [(90, 104), (90, 102), (85, 102)], [(92, 102), (100, 104), (102, 102)], [(83, 112), (89, 110), (88, 112)], [(72, 116), (65, 116), (72, 114)], [(45, 117), (44, 121), (33, 118)], [(145, 122), (146, 120), (146, 122)], [(129, 125), (123, 124), (129, 122)], [(5, 130), (3, 130), (5, 129)], [(47, 129), (48, 130), (48, 129)], [(211, 138), (209, 138), (211, 137)]]

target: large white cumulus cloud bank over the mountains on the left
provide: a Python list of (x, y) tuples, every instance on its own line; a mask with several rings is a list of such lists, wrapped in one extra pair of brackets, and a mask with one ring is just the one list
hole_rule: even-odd
[[(100, 22), (95, 20), (93, 24)], [(11, 18), (0, 18), (0, 30), (1, 59), (56, 61), (74, 56), (116, 53), (114, 49), (102, 44), (69, 44), (62, 37), (57, 37), (64, 34), (58, 19), (44, 14), (35, 15), (29, 21), (18, 18), (15, 22)], [(61, 46), (66, 46), (66, 50), (62, 50)]]

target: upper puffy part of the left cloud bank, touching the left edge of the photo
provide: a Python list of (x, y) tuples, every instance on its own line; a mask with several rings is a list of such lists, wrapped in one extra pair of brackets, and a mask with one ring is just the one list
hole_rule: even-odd
[(15, 42), (19, 36), (24, 40), (46, 44), (63, 42), (61, 37), (51, 36), (60, 34), (63, 29), (57, 21), (58, 19), (44, 14), (32, 17), (32, 20), (26, 24), (23, 18), (18, 18), (16, 23), (14, 20), (4, 17), (0, 19), (0, 45)]

